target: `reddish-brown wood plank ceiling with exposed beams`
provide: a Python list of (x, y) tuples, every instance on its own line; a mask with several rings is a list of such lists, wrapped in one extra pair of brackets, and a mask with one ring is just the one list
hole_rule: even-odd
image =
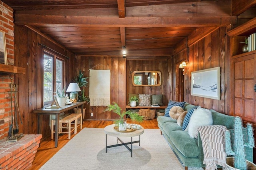
[[(41, 32), (78, 55), (170, 56), (200, 27), (236, 24), (255, 0), (2, 0), (14, 23)], [(234, 0), (233, 0), (234, 2)], [(183, 42), (183, 41), (182, 41)], [(186, 41), (185, 41), (186, 42)]]

